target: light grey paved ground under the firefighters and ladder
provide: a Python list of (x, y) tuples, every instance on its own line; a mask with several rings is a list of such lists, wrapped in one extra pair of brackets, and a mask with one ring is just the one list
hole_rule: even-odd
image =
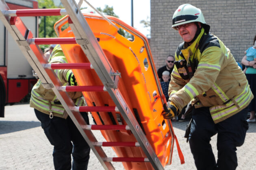
[[(90, 120), (91, 121), (91, 120)], [(185, 164), (180, 165), (176, 144), (172, 164), (166, 170), (194, 170), (195, 165), (189, 144), (182, 138), (188, 122), (173, 122), (174, 132), (178, 137)], [(95, 131), (98, 141), (103, 141), (100, 132)], [(216, 136), (211, 144), (217, 155)], [(245, 143), (237, 149), (238, 170), (256, 169), (256, 123), (251, 123)], [(112, 149), (104, 149), (109, 157), (115, 156)], [(94, 153), (90, 154), (88, 170), (103, 170)], [(121, 163), (113, 163), (117, 170), (123, 170)], [(5, 117), (0, 118), (0, 170), (53, 170), (52, 146), (46, 138), (35, 117), (33, 108), (28, 104), (16, 104), (5, 107)]]

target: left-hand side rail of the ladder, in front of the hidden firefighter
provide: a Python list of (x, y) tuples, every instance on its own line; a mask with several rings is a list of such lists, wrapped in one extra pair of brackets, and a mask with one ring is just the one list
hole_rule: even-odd
[[(61, 104), (63, 104), (63, 107), (67, 111), (68, 115), (72, 119), (72, 121), (75, 123), (75, 125), (78, 127), (78, 130), (82, 134), (82, 136), (85, 138), (86, 142), (90, 146), (90, 148), (95, 153), (96, 157), (99, 159), (100, 163), (102, 164), (103, 168), (105, 169), (115, 169), (111, 162), (104, 161), (103, 158), (106, 157), (106, 154), (104, 153), (103, 149), (98, 146), (93, 146), (92, 142), (97, 142), (97, 139), (93, 135), (93, 133), (89, 130), (83, 130), (82, 127), (80, 127), (80, 124), (85, 124), (85, 120), (82, 118), (80, 112), (72, 111), (69, 106), (75, 106), (74, 102), (70, 99), (67, 92), (65, 91), (59, 91), (58, 88), (62, 86), (61, 82), (57, 78), (56, 74), (53, 70), (49, 70), (46, 68), (43, 68), (42, 64), (47, 64), (47, 60), (44, 58), (43, 52), (38, 47), (38, 45), (30, 44), (28, 42), (29, 39), (33, 38), (32, 32), (26, 28), (24, 23), (22, 21), (18, 22), (19, 28), (22, 28), (22, 30), (19, 30), (17, 28), (17, 22), (15, 22), (15, 25), (10, 25), (9, 20), (11, 17), (4, 16), (2, 11), (9, 10), (9, 7), (7, 6), (6, 2), (4, 0), (0, 1), (0, 19), (6, 29), (10, 32), (13, 39), (17, 42), (18, 46), (20, 47), (22, 53), (28, 60), (30, 66), (37, 72), (37, 75), (39, 79), (45, 83), (46, 87), (49, 89), (51, 88), (54, 93), (56, 94), (57, 98), (60, 100)], [(35, 55), (37, 54), (39, 58)], [(56, 86), (55, 86), (56, 85)], [(91, 140), (90, 140), (90, 139)], [(92, 142), (91, 142), (92, 141)]]

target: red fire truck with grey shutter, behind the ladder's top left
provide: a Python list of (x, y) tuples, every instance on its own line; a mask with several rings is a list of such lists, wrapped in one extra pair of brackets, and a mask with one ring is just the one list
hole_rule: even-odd
[[(35, 0), (5, 0), (11, 10), (38, 8)], [(22, 21), (38, 35), (38, 18), (22, 17)], [(4, 106), (20, 102), (36, 83), (32, 68), (0, 22), (0, 117), (4, 117)]]

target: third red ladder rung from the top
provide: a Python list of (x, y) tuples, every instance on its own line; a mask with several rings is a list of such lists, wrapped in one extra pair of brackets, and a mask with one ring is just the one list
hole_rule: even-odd
[(44, 64), (48, 69), (92, 69), (91, 63), (52, 63)]

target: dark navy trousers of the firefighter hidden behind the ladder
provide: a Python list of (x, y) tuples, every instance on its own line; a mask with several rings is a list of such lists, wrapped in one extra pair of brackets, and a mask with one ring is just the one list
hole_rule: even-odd
[[(50, 143), (54, 146), (53, 163), (55, 170), (87, 170), (90, 147), (70, 117), (53, 117), (35, 109), (37, 119)], [(81, 113), (89, 125), (87, 113)], [(71, 154), (73, 162), (71, 165)]]

